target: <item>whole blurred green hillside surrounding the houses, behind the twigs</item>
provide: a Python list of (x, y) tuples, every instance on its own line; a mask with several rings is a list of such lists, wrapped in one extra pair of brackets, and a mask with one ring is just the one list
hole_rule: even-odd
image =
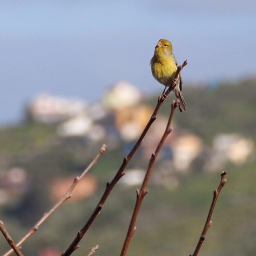
[[(236, 132), (256, 141), (256, 80), (224, 83), (214, 88), (184, 87), (182, 92), (187, 112), (175, 112), (175, 129), (194, 132), (207, 145), (219, 133)], [(159, 114), (168, 115), (171, 100), (170, 94)], [(156, 101), (154, 97), (148, 103), (155, 106)], [(29, 175), (27, 188), (23, 192), (21, 188), (21, 193), (14, 193), (0, 204), (0, 219), (15, 241), (54, 205), (49, 194), (52, 180), (81, 173), (101, 144), (92, 144), (83, 137), (59, 137), (56, 124), (26, 121), (0, 128), (0, 170), (20, 166)], [(128, 168), (146, 169), (150, 155), (143, 159), (138, 154), (135, 153)], [(65, 250), (91, 215), (106, 182), (112, 180), (125, 155), (127, 148), (122, 143), (117, 147), (108, 145), (90, 171), (98, 180), (96, 192), (79, 202), (65, 202), (24, 243), (24, 255), (38, 255), (43, 248)], [(159, 164), (156, 163), (153, 172)], [(149, 193), (142, 203), (128, 256), (193, 253), (223, 171), (203, 172), (198, 166), (195, 163), (188, 173), (178, 175), (179, 186), (174, 190), (149, 182)], [(256, 159), (251, 157), (241, 166), (228, 163), (225, 168), (227, 184), (220, 193), (212, 226), (199, 255), (252, 256), (256, 254)], [(95, 245), (99, 245), (95, 255), (120, 254), (137, 188), (117, 184), (81, 241), (80, 249), (72, 255), (87, 255)], [(9, 245), (0, 236), (0, 254), (8, 249)]]

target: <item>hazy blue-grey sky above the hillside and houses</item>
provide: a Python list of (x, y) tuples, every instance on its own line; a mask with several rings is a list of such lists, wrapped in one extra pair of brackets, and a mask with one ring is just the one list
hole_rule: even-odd
[(256, 75), (255, 0), (0, 0), (0, 124), (40, 92), (97, 101), (127, 80), (163, 90), (149, 61), (173, 43), (186, 83)]

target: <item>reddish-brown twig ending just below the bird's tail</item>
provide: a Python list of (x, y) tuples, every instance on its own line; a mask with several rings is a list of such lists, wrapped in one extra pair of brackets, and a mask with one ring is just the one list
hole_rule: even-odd
[(155, 152), (152, 154), (152, 156), (149, 160), (148, 170), (146, 171), (143, 183), (141, 185), (141, 189), (140, 190), (137, 189), (136, 204), (135, 204), (135, 207), (134, 207), (134, 210), (133, 210), (132, 218), (131, 218), (131, 221), (130, 221), (128, 232), (127, 232), (126, 239), (124, 241), (124, 245), (123, 245), (120, 256), (125, 256), (126, 255), (128, 246), (130, 244), (130, 240), (131, 240), (132, 235), (134, 234), (134, 231), (136, 229), (135, 228), (135, 222), (136, 222), (136, 219), (137, 219), (137, 216), (138, 216), (138, 213), (139, 213), (139, 209), (141, 207), (142, 200), (144, 199), (145, 195), (148, 193), (148, 190), (147, 190), (148, 180), (149, 180), (152, 168), (155, 164), (155, 159), (157, 158), (157, 155), (158, 155), (160, 149), (162, 148), (166, 137), (169, 135), (169, 133), (172, 130), (171, 129), (171, 121), (173, 119), (173, 114), (174, 114), (174, 111), (175, 111), (177, 106), (179, 106), (179, 103), (177, 101), (176, 102), (173, 101), (173, 103), (171, 105), (171, 113), (170, 113), (170, 116), (169, 116), (169, 119), (168, 119), (168, 122), (167, 122), (166, 129), (165, 129), (164, 134), (162, 136), (162, 139), (160, 140)]

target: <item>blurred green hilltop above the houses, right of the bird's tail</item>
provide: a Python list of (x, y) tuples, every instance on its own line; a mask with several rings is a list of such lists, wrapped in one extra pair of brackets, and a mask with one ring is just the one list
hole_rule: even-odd
[[(208, 143), (222, 132), (239, 132), (256, 139), (256, 80), (229, 82), (212, 88), (185, 87), (182, 94), (188, 111), (175, 115), (182, 129), (192, 130)], [(171, 104), (171, 94), (168, 98)], [(164, 107), (162, 111), (167, 115), (169, 110)]]

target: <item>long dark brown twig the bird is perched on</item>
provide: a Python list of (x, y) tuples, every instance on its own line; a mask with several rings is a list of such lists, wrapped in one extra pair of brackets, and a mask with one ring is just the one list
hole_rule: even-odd
[[(166, 97), (171, 92), (171, 90), (173, 90), (173, 88), (175, 87), (175, 85), (176, 85), (175, 81), (176, 81), (178, 75), (180, 74), (180, 71), (182, 70), (182, 68), (185, 67), (186, 65), (187, 65), (187, 61), (184, 61), (184, 63), (177, 68), (177, 72), (176, 72), (175, 78), (173, 79), (173, 81), (171, 83), (171, 86), (168, 88), (168, 90), (165, 93)], [(150, 126), (155, 121), (156, 116), (157, 116), (157, 112), (159, 111), (159, 109), (160, 109), (160, 107), (161, 107), (163, 102), (164, 102), (163, 97), (159, 96), (158, 97), (158, 101), (157, 101), (157, 106), (155, 107), (155, 110), (154, 110), (152, 116), (150, 117), (150, 119), (148, 121), (148, 124), (146, 125), (146, 127), (143, 130), (143, 132), (141, 133), (139, 139), (137, 140), (137, 142), (133, 146), (133, 148), (130, 151), (130, 153), (126, 157), (124, 157), (123, 163), (121, 164), (121, 166), (120, 166), (119, 170), (117, 171), (115, 177), (112, 179), (112, 181), (110, 183), (107, 182), (106, 189), (105, 189), (101, 199), (99, 200), (99, 203), (97, 204), (96, 208), (94, 209), (92, 215), (90, 216), (88, 221), (85, 223), (83, 228), (77, 233), (76, 237), (74, 238), (74, 240), (72, 241), (70, 246), (67, 248), (67, 250), (65, 252), (63, 252), (63, 254), (61, 254), (61, 256), (69, 256), (69, 255), (72, 254), (72, 252), (74, 252), (78, 248), (79, 242), (83, 238), (84, 234), (88, 231), (88, 229), (90, 228), (90, 226), (92, 225), (94, 220), (99, 215), (99, 212), (101, 211), (101, 209), (103, 207), (103, 204), (106, 202), (106, 200), (107, 200), (110, 192), (114, 188), (115, 184), (117, 184), (117, 182), (120, 180), (120, 178), (125, 175), (124, 169), (126, 168), (128, 162), (130, 161), (130, 159), (132, 158), (132, 156), (134, 155), (136, 150), (142, 144), (143, 139), (144, 139), (146, 133), (148, 132)]]

